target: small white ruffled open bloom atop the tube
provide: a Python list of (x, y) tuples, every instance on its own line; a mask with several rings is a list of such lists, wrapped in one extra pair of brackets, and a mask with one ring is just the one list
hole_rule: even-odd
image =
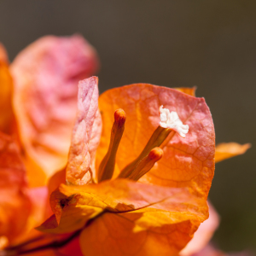
[(176, 131), (181, 137), (186, 137), (189, 131), (189, 125), (183, 125), (183, 122), (178, 118), (176, 112), (160, 106), (160, 126), (163, 128), (170, 128)]

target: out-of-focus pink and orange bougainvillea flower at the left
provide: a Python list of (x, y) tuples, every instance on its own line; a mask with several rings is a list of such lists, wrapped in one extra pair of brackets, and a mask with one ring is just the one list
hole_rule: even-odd
[[(97, 67), (96, 51), (80, 36), (39, 39), (16, 57), (11, 73), (0, 44), (0, 131), (11, 135), (1, 133), (0, 248), (38, 235), (32, 229), (43, 222), (48, 198), (47, 187), (38, 186), (53, 172), (53, 168), (41, 166), (40, 160), (47, 157), (47, 165), (64, 159), (58, 150), (49, 150), (38, 141), (54, 137), (54, 128), (59, 129), (53, 143), (62, 143), (62, 152), (68, 152), (65, 142), (72, 134), (77, 83), (95, 73)], [(55, 166), (56, 170), (61, 166)]]

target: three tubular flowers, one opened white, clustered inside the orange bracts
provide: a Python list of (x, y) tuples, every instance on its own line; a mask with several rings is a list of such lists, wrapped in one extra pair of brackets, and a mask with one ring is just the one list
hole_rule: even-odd
[[(111, 131), (108, 152), (102, 160), (98, 171), (98, 182), (111, 179), (113, 176), (116, 153), (121, 137), (125, 131), (125, 111), (121, 108), (114, 113), (114, 122)], [(119, 177), (138, 180), (149, 172), (154, 163), (161, 159), (163, 150), (160, 145), (165, 141), (171, 131), (176, 131), (181, 137), (185, 137), (189, 131), (189, 125), (183, 125), (176, 112), (160, 106), (160, 125), (149, 138), (143, 152), (119, 173)]]

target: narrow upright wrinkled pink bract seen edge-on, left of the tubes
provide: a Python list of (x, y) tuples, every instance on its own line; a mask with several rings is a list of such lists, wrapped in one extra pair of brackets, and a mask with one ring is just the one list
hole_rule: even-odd
[(68, 155), (67, 183), (82, 185), (89, 183), (92, 178), (92, 156), (95, 155), (102, 132), (98, 96), (96, 77), (79, 82), (78, 114)]

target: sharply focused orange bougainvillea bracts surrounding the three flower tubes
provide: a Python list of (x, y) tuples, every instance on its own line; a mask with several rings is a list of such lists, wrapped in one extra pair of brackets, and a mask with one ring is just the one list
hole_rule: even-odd
[[(38, 229), (49, 233), (80, 230), (84, 255), (177, 255), (208, 217), (207, 195), (215, 148), (211, 113), (204, 99), (169, 88), (131, 84), (108, 90), (99, 99), (103, 130), (94, 172), (94, 161), (84, 156), (91, 155), (90, 139), (96, 141), (96, 137), (91, 137), (97, 113), (97, 98), (92, 91), (96, 88), (96, 78), (79, 84), (79, 113), (67, 164), (68, 183), (61, 184), (51, 195), (55, 215)], [(186, 137), (175, 131), (166, 133), (164, 143), (159, 145), (161, 159), (139, 182), (116, 178), (143, 154), (148, 142), (153, 142), (155, 131), (160, 131), (160, 135), (154, 143), (160, 140), (165, 129), (157, 128), (161, 105), (176, 112), (183, 125), (189, 125)], [(113, 179), (96, 183), (109, 141), (119, 131), (118, 126), (117, 130), (112, 128), (118, 122), (113, 113), (119, 108), (125, 111), (126, 121), (115, 156)], [(81, 136), (82, 131), (86, 131), (86, 136)]]

